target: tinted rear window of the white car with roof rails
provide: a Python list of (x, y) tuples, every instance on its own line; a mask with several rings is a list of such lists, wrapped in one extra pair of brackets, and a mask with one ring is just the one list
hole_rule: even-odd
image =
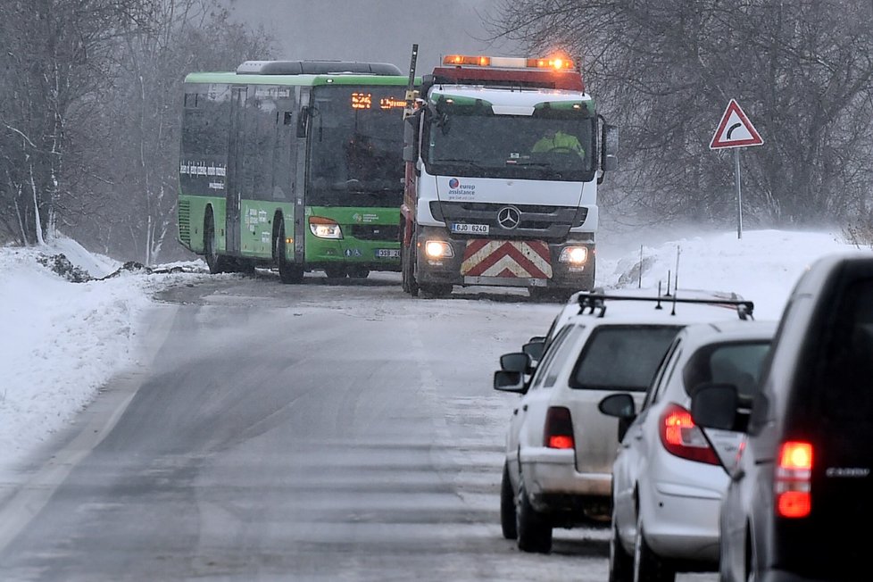
[(570, 387), (644, 392), (681, 326), (601, 326), (579, 353)]

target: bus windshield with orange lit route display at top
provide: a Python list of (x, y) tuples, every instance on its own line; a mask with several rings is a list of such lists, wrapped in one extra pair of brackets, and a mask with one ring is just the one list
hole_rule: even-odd
[(312, 206), (400, 206), (403, 87), (332, 85), (312, 90)]

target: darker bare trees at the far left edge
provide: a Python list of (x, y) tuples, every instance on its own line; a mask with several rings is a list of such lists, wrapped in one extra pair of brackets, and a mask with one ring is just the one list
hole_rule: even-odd
[(0, 6), (4, 156), (0, 224), (25, 244), (54, 229), (71, 107), (95, 90), (109, 41), (148, 21), (148, 0), (13, 0)]

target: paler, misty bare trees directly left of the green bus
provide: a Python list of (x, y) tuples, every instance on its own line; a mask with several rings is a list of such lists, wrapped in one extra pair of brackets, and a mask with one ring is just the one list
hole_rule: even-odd
[(117, 47), (112, 87), (99, 99), (106, 135), (92, 139), (104, 160), (96, 212), (76, 231), (116, 254), (151, 264), (176, 232), (182, 85), (190, 71), (229, 71), (269, 58), (270, 37), (230, 19), (212, 0), (162, 0), (152, 26)]

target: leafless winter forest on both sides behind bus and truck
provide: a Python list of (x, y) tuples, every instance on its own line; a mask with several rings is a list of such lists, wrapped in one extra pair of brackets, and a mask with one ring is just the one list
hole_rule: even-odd
[[(278, 50), (224, 5), (0, 3), (0, 242), (60, 230), (119, 259), (185, 256), (182, 79)], [(735, 98), (765, 142), (742, 153), (747, 225), (869, 229), (873, 0), (498, 0), (485, 18), (495, 41), (581, 58), (621, 129), (607, 212), (729, 227), (732, 157), (709, 143)]]

